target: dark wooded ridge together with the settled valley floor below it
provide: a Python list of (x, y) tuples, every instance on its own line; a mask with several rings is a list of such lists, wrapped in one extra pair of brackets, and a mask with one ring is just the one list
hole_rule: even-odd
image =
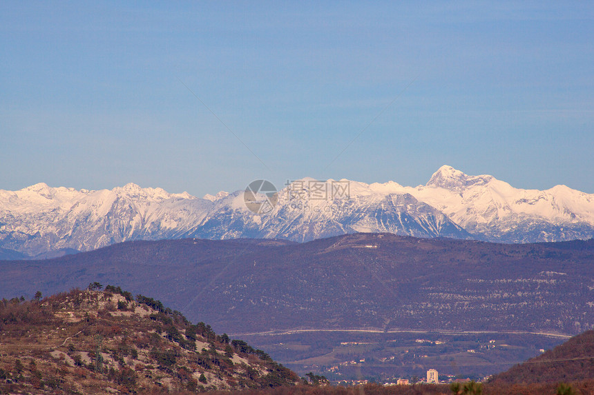
[(300, 374), (336, 381), (378, 372), (387, 380), (439, 365), (444, 374), (488, 376), (593, 327), (593, 262), (594, 241), (133, 241), (0, 261), (0, 297), (117, 283), (134, 294), (151, 290)]

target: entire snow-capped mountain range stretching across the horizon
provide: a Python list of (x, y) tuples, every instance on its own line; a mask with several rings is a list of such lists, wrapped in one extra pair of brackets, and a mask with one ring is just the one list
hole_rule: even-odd
[[(343, 190), (333, 196), (335, 184)], [(0, 190), (0, 248), (33, 256), (139, 239), (301, 242), (354, 232), (503, 243), (594, 236), (594, 194), (564, 185), (522, 190), (493, 176), (468, 176), (447, 165), (417, 187), (393, 181), (302, 179), (280, 190), (278, 202), (266, 214), (248, 210), (244, 197), (238, 190), (200, 199), (133, 183), (97, 191), (44, 183), (14, 192)]]

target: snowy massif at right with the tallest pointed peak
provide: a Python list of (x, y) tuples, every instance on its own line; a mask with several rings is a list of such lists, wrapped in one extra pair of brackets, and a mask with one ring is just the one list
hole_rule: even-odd
[(594, 195), (565, 185), (523, 190), (493, 176), (468, 176), (442, 166), (424, 187), (405, 190), (489, 241), (525, 243), (594, 236)]

